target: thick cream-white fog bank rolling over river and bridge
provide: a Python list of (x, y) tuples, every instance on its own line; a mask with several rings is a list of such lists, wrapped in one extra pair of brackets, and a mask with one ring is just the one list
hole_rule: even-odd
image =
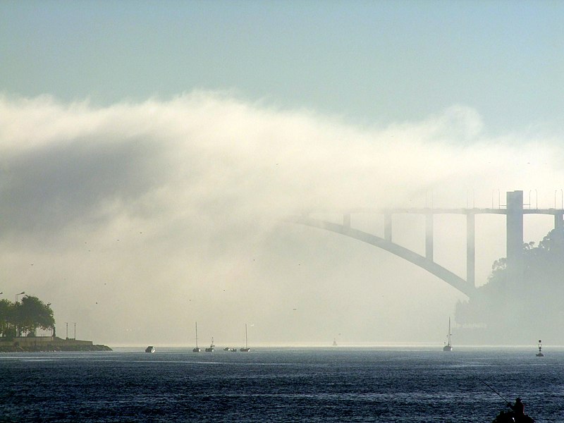
[[(0, 290), (97, 343), (434, 343), (465, 295), (357, 240), (283, 222), (350, 207), (562, 207), (560, 134), (490, 137), (479, 111), (359, 127), (229, 93), (99, 107), (0, 97)], [(342, 218), (341, 218), (342, 219)], [(381, 235), (381, 216), (353, 225)], [(422, 216), (394, 241), (424, 252)], [(435, 260), (465, 276), (465, 221), (436, 219)], [(525, 216), (525, 242), (550, 218)], [(477, 284), (505, 220), (476, 222)], [(557, 298), (545, 298), (557, 301)], [(558, 325), (554, 321), (550, 324)], [(252, 325), (252, 326), (251, 326)], [(537, 335), (532, 337), (534, 344)], [(455, 339), (455, 338), (454, 338)]]

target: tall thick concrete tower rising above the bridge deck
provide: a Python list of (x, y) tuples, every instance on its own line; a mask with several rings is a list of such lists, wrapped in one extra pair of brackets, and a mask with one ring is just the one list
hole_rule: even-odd
[(510, 281), (523, 274), (523, 192), (507, 193), (507, 269)]

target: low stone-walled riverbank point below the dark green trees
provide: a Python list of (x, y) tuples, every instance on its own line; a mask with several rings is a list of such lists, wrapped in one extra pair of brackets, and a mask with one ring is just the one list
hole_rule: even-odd
[(63, 339), (57, 336), (25, 336), (0, 341), (0, 353), (41, 353), (50, 351), (111, 351), (107, 345), (92, 341)]

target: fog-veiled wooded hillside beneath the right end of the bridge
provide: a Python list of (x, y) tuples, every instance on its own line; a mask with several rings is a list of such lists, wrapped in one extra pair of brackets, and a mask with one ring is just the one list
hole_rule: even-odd
[(538, 245), (525, 243), (521, 264), (522, 274), (515, 276), (505, 258), (496, 260), (487, 283), (458, 303), (457, 324), (486, 328), (498, 341), (564, 341), (564, 228), (553, 229)]

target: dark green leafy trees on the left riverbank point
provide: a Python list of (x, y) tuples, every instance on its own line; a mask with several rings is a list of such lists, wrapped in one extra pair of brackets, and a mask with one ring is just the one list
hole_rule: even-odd
[(0, 336), (35, 336), (37, 329), (54, 330), (55, 319), (51, 304), (26, 295), (18, 302), (0, 300)]

